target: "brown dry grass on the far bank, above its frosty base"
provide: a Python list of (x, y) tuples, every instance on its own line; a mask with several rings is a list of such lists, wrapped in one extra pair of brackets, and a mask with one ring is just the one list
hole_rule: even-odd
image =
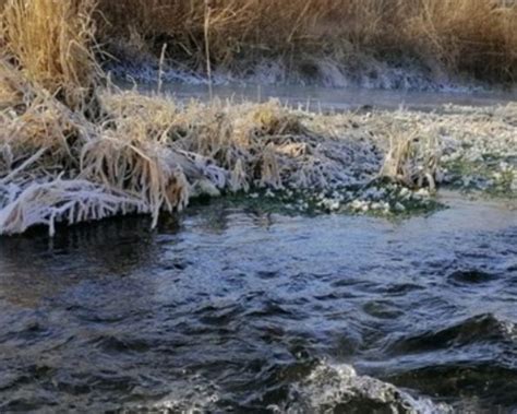
[[(450, 72), (517, 75), (517, 2), (512, 0), (100, 0), (104, 39), (205, 66), (209, 13), (213, 63), (262, 57), (346, 60), (409, 57)], [(117, 48), (113, 48), (117, 50)], [(120, 51), (120, 49), (118, 49)]]

